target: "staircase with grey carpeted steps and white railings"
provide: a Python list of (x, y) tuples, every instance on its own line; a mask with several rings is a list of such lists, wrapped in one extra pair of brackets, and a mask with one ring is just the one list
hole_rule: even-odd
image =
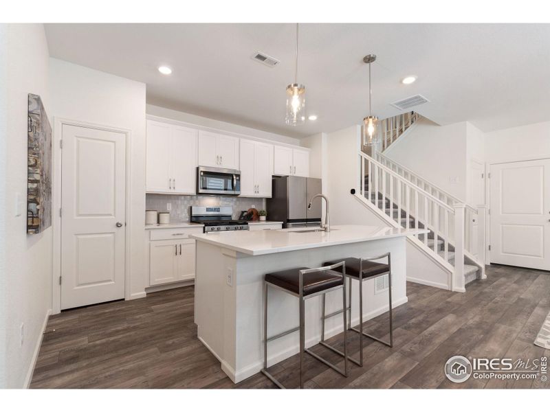
[[(382, 127), (382, 147), (397, 141), (418, 118), (416, 113), (406, 113), (399, 119), (385, 119), (382, 125), (390, 130)], [(485, 225), (484, 209), (480, 214), (376, 150), (372, 157), (361, 151), (359, 160), (360, 193), (355, 196), (388, 225), (428, 229), (427, 234), (409, 240), (448, 271), (450, 290), (464, 292), (466, 284), (485, 278), (485, 265), (475, 250), (476, 230)]]

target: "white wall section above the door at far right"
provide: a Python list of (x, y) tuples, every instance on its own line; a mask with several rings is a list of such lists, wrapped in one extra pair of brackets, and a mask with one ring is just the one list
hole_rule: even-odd
[(550, 122), (485, 133), (487, 163), (550, 157)]

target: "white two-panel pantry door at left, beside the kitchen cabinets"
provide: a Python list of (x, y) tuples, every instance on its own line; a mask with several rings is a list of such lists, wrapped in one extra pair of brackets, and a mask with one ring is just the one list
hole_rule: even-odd
[(61, 309), (124, 298), (126, 141), (63, 125)]

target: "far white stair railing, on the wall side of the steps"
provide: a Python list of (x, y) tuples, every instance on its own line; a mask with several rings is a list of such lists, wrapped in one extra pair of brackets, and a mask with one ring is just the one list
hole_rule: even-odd
[[(461, 199), (457, 198), (456, 196), (453, 196), (449, 192), (446, 192), (445, 190), (441, 189), (437, 185), (434, 185), (430, 181), (427, 181), (426, 179), (423, 179), (423, 177), (419, 176), (415, 172), (412, 172), (412, 170), (409, 170), (408, 168), (405, 168), (403, 165), (400, 165), (396, 161), (393, 161), (392, 159), (388, 158), (386, 155), (380, 152), (375, 152), (374, 157), (377, 161), (382, 163), (382, 165), (386, 166), (386, 168), (389, 168), (399, 174), (399, 176), (404, 177), (407, 181), (410, 181), (410, 183), (420, 187), (422, 190), (425, 190), (426, 192), (432, 194), (432, 196), (435, 196), (440, 201), (443, 201), (450, 207), (454, 208), (454, 205), (463, 204), (464, 201), (461, 201)], [(469, 253), (472, 253), (472, 255), (478, 254), (478, 234), (474, 231), (474, 223), (476, 220), (483, 220), (482, 216), (478, 216), (480, 212), (476, 207), (472, 207), (471, 205), (464, 204), (465, 208), (465, 250)], [(484, 211), (482, 211), (484, 212)], [(479, 226), (478, 226), (479, 227)], [(483, 230), (483, 228), (479, 227)], [(481, 246), (481, 244), (480, 244)]]

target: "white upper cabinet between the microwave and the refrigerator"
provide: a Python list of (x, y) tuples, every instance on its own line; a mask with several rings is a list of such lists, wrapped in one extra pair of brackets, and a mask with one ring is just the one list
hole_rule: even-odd
[(271, 197), (273, 146), (241, 139), (241, 196)]

